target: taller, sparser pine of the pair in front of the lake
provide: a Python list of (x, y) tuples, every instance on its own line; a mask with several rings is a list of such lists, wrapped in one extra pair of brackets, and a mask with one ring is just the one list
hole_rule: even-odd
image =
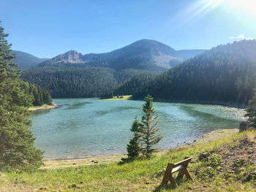
[(145, 104), (143, 104), (143, 112), (145, 112), (145, 115), (141, 118), (142, 123), (142, 153), (146, 156), (146, 158), (150, 158), (152, 153), (154, 153), (157, 149), (154, 148), (154, 145), (156, 145), (161, 139), (161, 135), (156, 135), (157, 131), (159, 131), (159, 128), (155, 128), (157, 126), (158, 121), (157, 117), (154, 115), (154, 112), (156, 112), (153, 108), (153, 98), (148, 95), (145, 97)]

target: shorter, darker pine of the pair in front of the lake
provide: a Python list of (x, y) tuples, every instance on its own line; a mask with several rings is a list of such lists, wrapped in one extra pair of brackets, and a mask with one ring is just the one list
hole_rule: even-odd
[(119, 164), (124, 164), (130, 161), (134, 161), (140, 155), (140, 137), (141, 137), (141, 123), (135, 118), (132, 123), (132, 128), (130, 131), (133, 132), (132, 139), (129, 139), (129, 144), (127, 145), (127, 155), (128, 158), (121, 158), (121, 162)]

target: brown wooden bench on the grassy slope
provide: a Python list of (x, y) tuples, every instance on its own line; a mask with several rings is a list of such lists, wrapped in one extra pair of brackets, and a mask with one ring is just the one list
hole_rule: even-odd
[[(178, 187), (178, 184), (176, 183), (176, 180), (181, 180), (184, 174), (189, 180), (192, 180), (189, 172), (187, 171), (187, 166), (189, 165), (189, 162), (192, 160), (192, 158), (185, 157), (183, 161), (180, 161), (176, 164), (167, 164), (167, 168), (165, 170), (165, 175), (162, 179), (162, 186), (166, 186), (168, 181), (170, 180), (170, 183), (173, 185), (176, 185)], [(176, 180), (173, 178), (173, 173), (178, 172), (178, 177)]]

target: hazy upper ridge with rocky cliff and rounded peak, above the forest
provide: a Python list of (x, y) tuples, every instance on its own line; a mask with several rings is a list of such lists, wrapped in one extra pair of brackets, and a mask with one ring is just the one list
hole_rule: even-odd
[(143, 39), (109, 53), (83, 55), (70, 50), (39, 66), (53, 66), (64, 62), (65, 64), (84, 64), (84, 66), (107, 67), (115, 70), (146, 69), (163, 72), (181, 61), (181, 57), (173, 48), (161, 42)]

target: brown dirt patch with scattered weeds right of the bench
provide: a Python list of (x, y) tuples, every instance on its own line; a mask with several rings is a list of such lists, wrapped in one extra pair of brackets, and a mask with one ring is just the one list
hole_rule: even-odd
[[(256, 137), (254, 136), (241, 137), (218, 150), (201, 153), (197, 161), (202, 164), (200, 169), (195, 170), (195, 175), (202, 181), (202, 185), (214, 177), (219, 177), (227, 186), (231, 181), (250, 182), (256, 190)], [(211, 189), (211, 186), (203, 185), (203, 191), (211, 191)]]

